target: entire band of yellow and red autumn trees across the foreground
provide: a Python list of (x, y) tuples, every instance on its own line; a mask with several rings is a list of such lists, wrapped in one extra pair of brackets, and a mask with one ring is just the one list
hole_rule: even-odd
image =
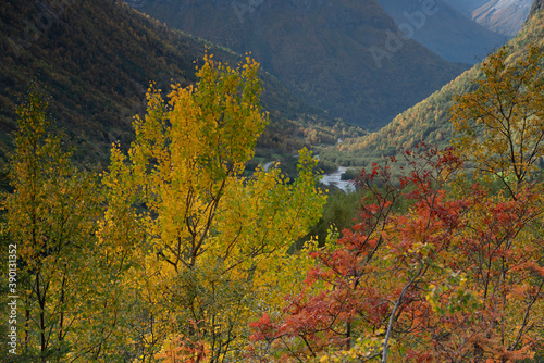
[[(510, 100), (500, 82), (529, 75), (509, 102), (531, 101), (530, 115), (503, 120), (515, 132), (485, 123), (489, 92), (465, 96), (457, 147), (420, 142), (362, 170), (357, 220), (324, 242), (307, 236), (326, 199), (310, 151), (293, 180), (277, 165), (245, 173), (268, 123), (249, 55), (231, 67), (206, 54), (196, 85), (166, 97), (151, 85), (135, 140), (113, 143), (96, 175), (30, 93), (0, 203), (0, 242), (17, 246), (17, 361), (532, 360), (544, 347), (542, 54), (516, 72), (505, 59), (483, 65), (480, 86)], [(507, 143), (512, 158), (493, 152)]]

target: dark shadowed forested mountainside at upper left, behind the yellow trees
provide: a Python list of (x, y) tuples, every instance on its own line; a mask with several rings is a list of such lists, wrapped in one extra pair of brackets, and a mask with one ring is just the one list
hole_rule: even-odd
[[(171, 30), (120, 1), (2, 0), (0, 162), (13, 149), (14, 107), (33, 87), (50, 98), (49, 112), (77, 147), (78, 161), (107, 161), (111, 142), (126, 146), (132, 140), (132, 117), (144, 111), (149, 83), (164, 91), (172, 82), (195, 83), (195, 62), (207, 46), (218, 60), (231, 64), (242, 60)], [(274, 77), (264, 72), (261, 76), (262, 103), (271, 113), (261, 148), (301, 148), (310, 128), (314, 142), (337, 139), (332, 121), (327, 124), (319, 116), (321, 111), (305, 105)], [(342, 135), (342, 127), (336, 130)]]

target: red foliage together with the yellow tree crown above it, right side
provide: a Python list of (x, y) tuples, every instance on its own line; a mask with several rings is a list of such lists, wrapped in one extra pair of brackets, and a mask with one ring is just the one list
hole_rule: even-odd
[[(519, 362), (542, 350), (540, 48), (458, 98), (456, 148), (362, 170), (358, 221), (310, 253), (299, 293), (251, 327), (255, 361)], [(407, 165), (407, 166), (406, 166)], [(473, 173), (473, 172), (477, 173)]]

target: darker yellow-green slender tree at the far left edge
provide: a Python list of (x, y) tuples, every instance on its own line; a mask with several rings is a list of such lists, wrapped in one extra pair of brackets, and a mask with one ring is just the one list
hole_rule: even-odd
[[(23, 362), (97, 360), (113, 320), (108, 268), (96, 249), (98, 180), (72, 164), (50, 133), (47, 101), (30, 92), (17, 109), (12, 192), (2, 200), (3, 238), (17, 251), (18, 348)], [(111, 291), (111, 289), (110, 289)], [(113, 314), (114, 315), (114, 314)]]

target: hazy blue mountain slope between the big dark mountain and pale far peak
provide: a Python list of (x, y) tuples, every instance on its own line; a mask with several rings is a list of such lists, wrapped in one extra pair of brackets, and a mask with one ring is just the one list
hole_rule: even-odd
[(508, 40), (444, 1), (436, 1), (426, 14), (419, 0), (379, 1), (407, 36), (450, 62), (475, 64)]

